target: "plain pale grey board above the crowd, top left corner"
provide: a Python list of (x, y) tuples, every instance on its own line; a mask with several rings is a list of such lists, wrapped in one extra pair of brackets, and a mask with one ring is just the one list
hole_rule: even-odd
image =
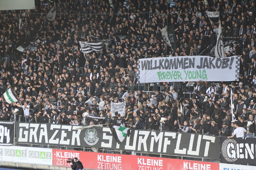
[(35, 0), (1, 0), (0, 10), (35, 9)]

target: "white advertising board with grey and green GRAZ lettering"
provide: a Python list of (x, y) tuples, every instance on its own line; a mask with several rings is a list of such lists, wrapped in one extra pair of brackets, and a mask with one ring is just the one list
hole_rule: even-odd
[(52, 165), (52, 149), (1, 146), (0, 161)]

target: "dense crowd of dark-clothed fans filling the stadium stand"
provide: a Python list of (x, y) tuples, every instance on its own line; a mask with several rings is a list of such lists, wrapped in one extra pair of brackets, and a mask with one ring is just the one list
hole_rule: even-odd
[[(114, 121), (119, 126), (159, 130), (163, 117), (166, 131), (225, 137), (251, 121), (249, 137), (254, 137), (254, 1), (216, 0), (208, 5), (175, 1), (170, 7), (163, 0), (113, 0), (113, 5), (105, 0), (58, 0), (54, 21), (46, 17), (54, 3), (35, 2), (35, 9), (0, 11), (0, 93), (12, 88), (20, 100), (7, 104), (1, 98), (0, 121), (13, 121), (14, 109), (23, 107), (17, 114), (26, 122), (93, 125)], [(216, 40), (218, 19), (209, 20), (207, 11), (220, 12), (223, 36), (239, 42), (226, 53), (241, 55), (239, 81), (139, 84), (137, 59), (195, 56)], [(174, 35), (172, 47), (162, 38), (164, 27)], [(83, 54), (79, 41), (103, 39), (110, 41), (102, 50)], [(16, 49), (29, 41), (34, 42), (34, 50)], [(231, 89), (237, 120), (233, 123)], [(122, 101), (126, 115), (112, 117), (110, 103)], [(91, 116), (85, 122), (84, 112)]]

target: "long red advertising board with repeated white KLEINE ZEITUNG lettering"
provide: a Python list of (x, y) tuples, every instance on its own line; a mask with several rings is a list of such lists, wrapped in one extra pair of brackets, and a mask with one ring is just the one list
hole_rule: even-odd
[(72, 150), (52, 149), (54, 166), (70, 167), (68, 158), (77, 157), (86, 169), (105, 170), (217, 170), (218, 163), (179, 160), (170, 158), (104, 154)]

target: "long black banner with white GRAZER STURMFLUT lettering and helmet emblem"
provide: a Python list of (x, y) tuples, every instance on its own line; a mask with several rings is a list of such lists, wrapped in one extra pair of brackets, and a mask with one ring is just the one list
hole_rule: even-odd
[(16, 123), (17, 143), (118, 149), (151, 154), (192, 156), (219, 160), (220, 138), (203, 134), (131, 130), (118, 144), (109, 127), (77, 130), (60, 124)]

